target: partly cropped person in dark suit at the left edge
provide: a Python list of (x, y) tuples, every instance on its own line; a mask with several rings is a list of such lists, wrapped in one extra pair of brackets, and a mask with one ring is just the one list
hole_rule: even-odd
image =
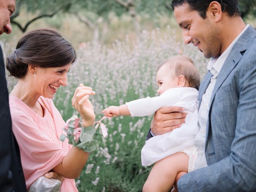
[[(0, 0), (0, 34), (10, 34), (15, 0)], [(20, 150), (12, 133), (4, 58), (0, 47), (0, 192), (26, 192)]]

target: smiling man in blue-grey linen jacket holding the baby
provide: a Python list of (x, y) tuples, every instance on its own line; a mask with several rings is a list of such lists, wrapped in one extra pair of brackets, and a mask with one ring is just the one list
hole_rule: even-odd
[[(208, 167), (178, 177), (178, 191), (255, 192), (256, 30), (242, 21), (237, 0), (173, 0), (172, 8), (184, 42), (211, 58), (198, 110), (198, 124), (206, 131)], [(170, 117), (163, 114), (172, 111), (155, 114), (153, 134), (164, 132)], [(179, 126), (177, 119), (184, 120), (172, 114), (172, 126)]]

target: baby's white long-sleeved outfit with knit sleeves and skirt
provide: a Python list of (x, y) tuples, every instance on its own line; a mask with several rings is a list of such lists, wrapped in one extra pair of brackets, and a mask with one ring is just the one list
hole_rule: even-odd
[(186, 109), (186, 122), (180, 128), (146, 141), (142, 148), (142, 165), (149, 166), (154, 162), (185, 150), (195, 144), (198, 132), (198, 90), (191, 87), (171, 88), (156, 97), (146, 97), (126, 105), (131, 116), (149, 116), (164, 106), (180, 106)]

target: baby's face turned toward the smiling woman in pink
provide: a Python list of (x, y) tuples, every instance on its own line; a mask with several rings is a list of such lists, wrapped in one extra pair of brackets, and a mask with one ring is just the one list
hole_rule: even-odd
[(174, 76), (169, 64), (164, 64), (156, 74), (156, 82), (158, 84), (158, 94), (162, 94), (170, 88), (178, 87), (178, 78)]

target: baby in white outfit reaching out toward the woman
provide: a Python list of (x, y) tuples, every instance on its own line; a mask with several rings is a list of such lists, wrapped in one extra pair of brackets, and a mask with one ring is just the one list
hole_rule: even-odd
[(110, 106), (102, 111), (107, 117), (115, 117), (149, 116), (164, 106), (181, 106), (185, 109), (186, 120), (180, 128), (150, 138), (142, 148), (142, 165), (149, 166), (156, 162), (144, 184), (145, 192), (169, 191), (178, 172), (207, 166), (206, 163), (195, 164), (199, 150), (195, 137), (198, 133), (200, 76), (194, 63), (186, 56), (171, 57), (158, 66), (156, 82), (160, 96)]

